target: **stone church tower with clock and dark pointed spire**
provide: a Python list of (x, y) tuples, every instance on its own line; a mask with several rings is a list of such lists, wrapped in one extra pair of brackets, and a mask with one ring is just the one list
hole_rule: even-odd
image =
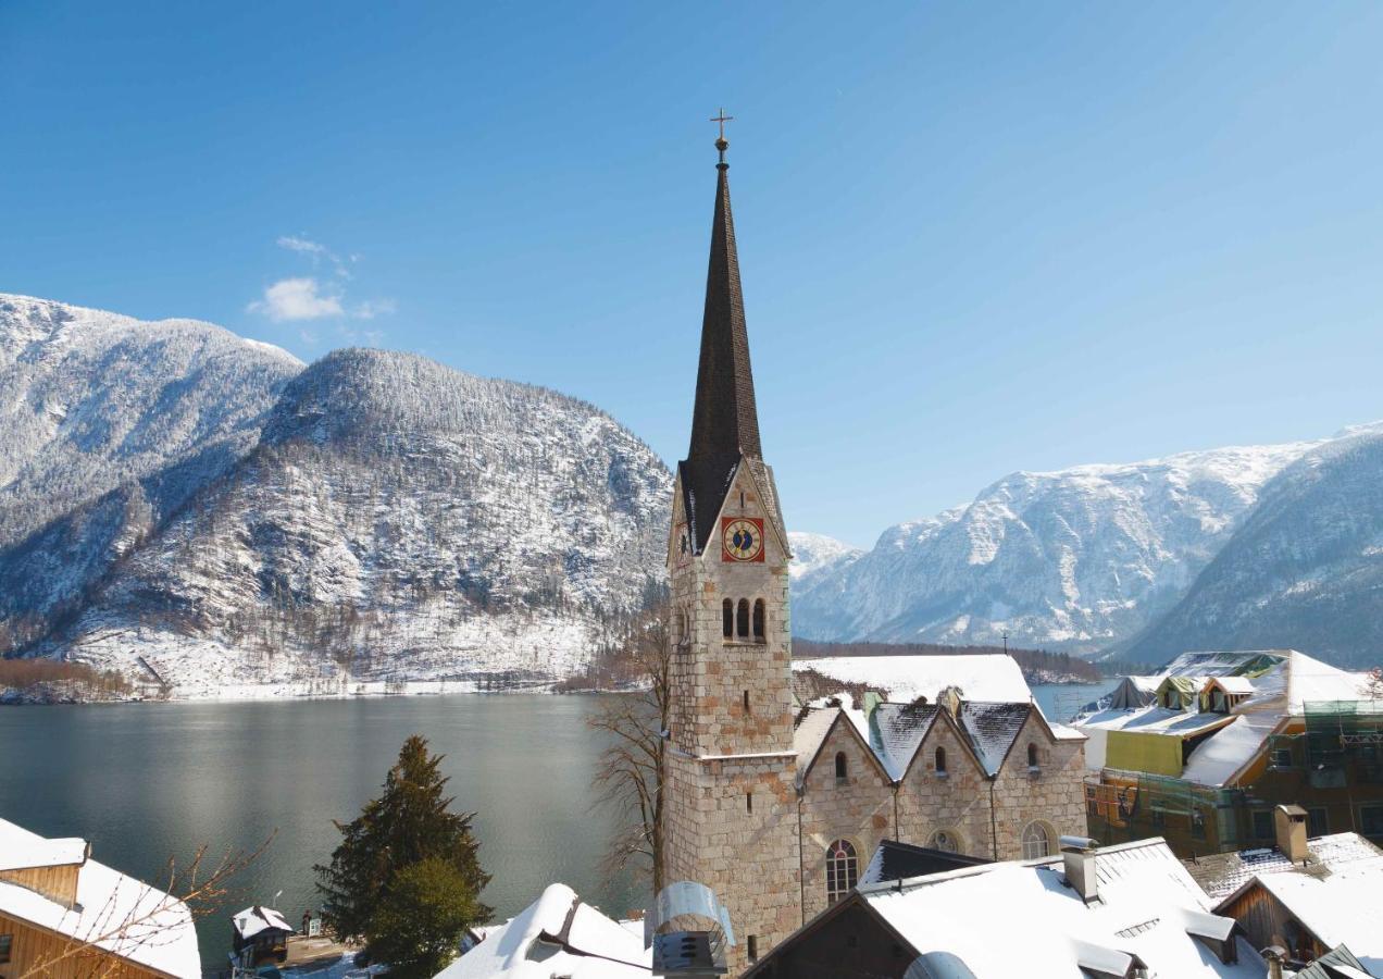
[(697, 881), (721, 897), (736, 975), (799, 926), (802, 908), (791, 554), (759, 444), (721, 122), (692, 447), (678, 466), (668, 542), (664, 881)]

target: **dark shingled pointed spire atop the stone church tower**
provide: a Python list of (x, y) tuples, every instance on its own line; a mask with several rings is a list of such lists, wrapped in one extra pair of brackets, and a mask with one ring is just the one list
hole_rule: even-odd
[(692, 447), (680, 466), (687, 520), (700, 552), (711, 535), (740, 456), (762, 459), (759, 416), (754, 407), (750, 337), (744, 328), (740, 260), (734, 250), (730, 213), (730, 165), (722, 136), (711, 225), (711, 265), (705, 277), (705, 314), (701, 318), (701, 364), (696, 377)]

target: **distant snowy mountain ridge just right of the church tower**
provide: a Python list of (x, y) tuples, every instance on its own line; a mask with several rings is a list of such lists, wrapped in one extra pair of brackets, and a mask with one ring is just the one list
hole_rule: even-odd
[(1007, 632), (1028, 647), (1109, 647), (1187, 595), (1270, 480), (1339, 442), (1014, 473), (794, 590), (794, 632), (974, 644)]

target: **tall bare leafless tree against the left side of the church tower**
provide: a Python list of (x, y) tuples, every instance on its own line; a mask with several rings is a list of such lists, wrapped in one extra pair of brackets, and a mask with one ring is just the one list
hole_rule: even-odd
[(635, 693), (606, 697), (586, 720), (607, 737), (596, 785), (600, 799), (625, 824), (604, 859), (607, 874), (635, 868), (662, 889), (662, 773), (671, 702), (672, 644), (667, 606), (635, 618), (614, 651), (615, 669), (638, 684)]

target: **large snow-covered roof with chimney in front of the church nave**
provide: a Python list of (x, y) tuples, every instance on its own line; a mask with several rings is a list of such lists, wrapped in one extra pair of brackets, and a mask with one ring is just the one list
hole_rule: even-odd
[(1162, 839), (1098, 850), (1095, 867), (1099, 900), (1090, 904), (1065, 885), (1061, 857), (863, 885), (859, 893), (924, 962), (969, 969), (942, 975), (1008, 979), (1015, 968), (1026, 979), (1090, 975), (1083, 969), (1124, 975), (1134, 957), (1158, 976), (1264, 975), (1243, 939), (1235, 939), (1232, 965), (1196, 940), (1228, 935), (1232, 922), (1209, 914), (1205, 893)]

